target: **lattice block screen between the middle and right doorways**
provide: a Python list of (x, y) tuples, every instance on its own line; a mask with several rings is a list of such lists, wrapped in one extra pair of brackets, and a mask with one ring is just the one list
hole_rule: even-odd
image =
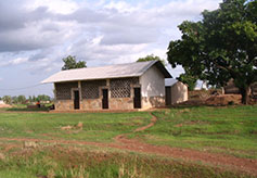
[(112, 98), (130, 98), (131, 85), (139, 84), (139, 78), (115, 78), (110, 80)]

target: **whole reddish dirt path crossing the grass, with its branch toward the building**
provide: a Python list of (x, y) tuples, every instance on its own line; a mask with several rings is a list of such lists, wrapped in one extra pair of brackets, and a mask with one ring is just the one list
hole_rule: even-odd
[[(152, 115), (151, 124), (140, 127), (134, 130), (143, 131), (156, 123), (157, 118)], [(43, 140), (43, 139), (26, 139), (26, 138), (0, 138), (0, 140), (15, 140), (15, 141), (31, 141), (35, 143), (54, 143), (54, 144), (86, 144), (101, 148), (115, 148), (127, 151), (152, 153), (156, 155), (165, 155), (172, 158), (182, 158), (184, 161), (203, 162), (215, 166), (222, 166), (223, 168), (236, 169), (240, 171), (246, 171), (257, 176), (257, 161), (250, 158), (239, 158), (231, 155), (223, 155), (217, 153), (208, 153), (203, 151), (190, 150), (190, 149), (178, 149), (165, 145), (153, 145), (149, 143), (140, 142), (137, 139), (128, 139), (126, 135), (119, 135), (114, 138), (113, 143), (100, 143), (100, 142), (88, 142), (88, 141), (73, 141), (73, 140)]]

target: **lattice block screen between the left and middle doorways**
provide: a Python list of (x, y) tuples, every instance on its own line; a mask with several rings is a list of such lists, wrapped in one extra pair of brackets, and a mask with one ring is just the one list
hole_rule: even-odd
[(99, 87), (106, 86), (106, 80), (81, 81), (82, 99), (99, 99)]

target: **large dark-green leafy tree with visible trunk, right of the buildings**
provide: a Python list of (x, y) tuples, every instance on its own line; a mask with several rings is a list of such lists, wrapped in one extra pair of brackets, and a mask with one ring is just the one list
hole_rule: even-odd
[(169, 63), (217, 87), (233, 78), (247, 103), (257, 80), (256, 9), (255, 0), (223, 0), (219, 9), (204, 11), (202, 21), (183, 22), (181, 39), (169, 43)]

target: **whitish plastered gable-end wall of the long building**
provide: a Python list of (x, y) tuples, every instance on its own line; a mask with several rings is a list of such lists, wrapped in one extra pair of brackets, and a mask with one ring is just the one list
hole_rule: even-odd
[(150, 67), (140, 78), (142, 97), (164, 97), (165, 77), (156, 67)]

